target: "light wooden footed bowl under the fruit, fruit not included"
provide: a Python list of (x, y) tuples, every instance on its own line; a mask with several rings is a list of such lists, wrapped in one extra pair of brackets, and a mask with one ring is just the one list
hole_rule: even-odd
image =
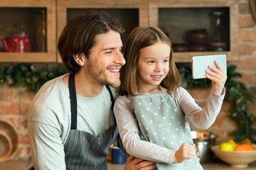
[(211, 147), (213, 153), (223, 162), (230, 164), (234, 168), (245, 168), (248, 164), (256, 161), (256, 145), (252, 151), (221, 151), (219, 145)]

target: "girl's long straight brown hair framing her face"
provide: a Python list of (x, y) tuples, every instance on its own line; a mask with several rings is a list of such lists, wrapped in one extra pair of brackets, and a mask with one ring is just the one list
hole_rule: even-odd
[(124, 59), (126, 64), (120, 69), (121, 86), (119, 88), (120, 95), (137, 96), (139, 89), (137, 66), (139, 61), (140, 50), (144, 47), (154, 45), (156, 42), (165, 42), (170, 45), (169, 72), (161, 81), (161, 86), (171, 91), (181, 86), (181, 75), (174, 63), (173, 49), (171, 41), (159, 28), (153, 27), (137, 27), (130, 33), (126, 45), (124, 46)]

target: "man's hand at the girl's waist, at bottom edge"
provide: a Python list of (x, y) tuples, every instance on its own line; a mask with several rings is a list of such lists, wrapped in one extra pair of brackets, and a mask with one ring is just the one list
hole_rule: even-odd
[(146, 161), (144, 159), (139, 159), (130, 156), (127, 159), (127, 164), (124, 167), (124, 170), (151, 170), (156, 169), (156, 162)]

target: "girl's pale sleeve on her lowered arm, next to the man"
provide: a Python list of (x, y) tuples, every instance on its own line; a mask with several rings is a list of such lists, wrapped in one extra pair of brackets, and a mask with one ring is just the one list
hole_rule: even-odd
[(126, 96), (118, 97), (114, 103), (114, 115), (127, 153), (152, 162), (172, 164), (176, 151), (141, 140), (137, 120), (132, 112), (132, 101)]

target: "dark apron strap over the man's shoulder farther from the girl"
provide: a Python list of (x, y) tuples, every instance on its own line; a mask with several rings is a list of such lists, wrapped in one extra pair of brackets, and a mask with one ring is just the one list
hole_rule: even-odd
[(75, 91), (75, 74), (70, 74), (68, 78), (68, 89), (70, 92), (70, 106), (71, 106), (71, 130), (77, 129), (78, 106)]

